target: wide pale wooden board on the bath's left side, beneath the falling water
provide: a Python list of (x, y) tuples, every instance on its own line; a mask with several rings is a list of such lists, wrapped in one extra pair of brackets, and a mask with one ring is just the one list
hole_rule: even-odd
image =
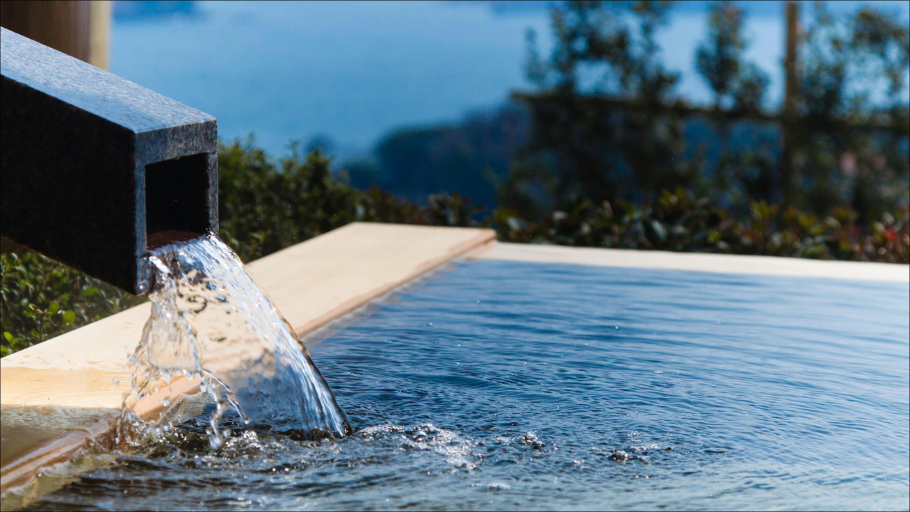
[[(493, 230), (354, 222), (253, 261), (248, 270), (295, 331), (306, 335), (494, 238)], [(142, 304), (0, 359), (0, 404), (119, 411), (129, 380), (115, 384), (111, 375), (128, 372), (127, 357), (149, 311)], [(48, 391), (48, 382), (56, 382), (50, 388), (59, 392)], [(175, 380), (135, 404), (134, 412), (153, 418), (163, 412), (165, 398), (174, 403), (197, 389), (194, 381)], [(110, 445), (115, 424), (116, 418), (106, 418), (61, 430), (0, 468), (0, 492), (27, 486), (44, 468), (92, 443)]]

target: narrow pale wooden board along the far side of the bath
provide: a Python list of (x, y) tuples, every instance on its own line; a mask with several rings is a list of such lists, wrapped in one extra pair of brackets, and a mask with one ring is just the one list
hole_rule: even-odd
[(774, 256), (633, 251), (495, 242), (471, 252), (470, 258), (475, 260), (571, 263), (601, 267), (910, 282), (910, 266), (905, 264), (820, 261)]

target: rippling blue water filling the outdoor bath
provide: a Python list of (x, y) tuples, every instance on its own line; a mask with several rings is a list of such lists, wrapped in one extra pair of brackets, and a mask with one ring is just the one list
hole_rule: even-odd
[(351, 435), (227, 410), (213, 448), (208, 405), (33, 507), (907, 508), (908, 311), (896, 282), (464, 262), (307, 340)]

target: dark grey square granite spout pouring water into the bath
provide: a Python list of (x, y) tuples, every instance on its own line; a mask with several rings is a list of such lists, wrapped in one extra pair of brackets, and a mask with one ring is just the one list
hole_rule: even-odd
[(216, 119), (5, 28), (0, 43), (0, 235), (147, 292), (149, 249), (217, 232)]

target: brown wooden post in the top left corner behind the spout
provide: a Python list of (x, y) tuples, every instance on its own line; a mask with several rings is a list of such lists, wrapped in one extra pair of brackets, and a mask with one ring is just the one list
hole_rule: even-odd
[(110, 15), (108, 0), (0, 1), (0, 26), (102, 69)]

